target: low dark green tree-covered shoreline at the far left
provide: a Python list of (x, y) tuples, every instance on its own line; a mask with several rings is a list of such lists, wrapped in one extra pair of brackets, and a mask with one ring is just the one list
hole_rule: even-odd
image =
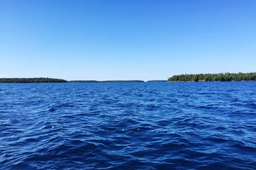
[(0, 83), (65, 83), (57, 78), (0, 78)]

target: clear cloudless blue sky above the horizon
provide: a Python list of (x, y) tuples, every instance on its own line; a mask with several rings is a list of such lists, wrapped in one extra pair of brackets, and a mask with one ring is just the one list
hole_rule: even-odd
[(256, 1), (0, 0), (0, 77), (256, 71)]

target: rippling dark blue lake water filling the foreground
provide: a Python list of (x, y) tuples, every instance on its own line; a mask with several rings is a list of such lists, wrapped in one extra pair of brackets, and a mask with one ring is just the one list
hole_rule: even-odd
[(256, 169), (256, 82), (0, 84), (0, 169)]

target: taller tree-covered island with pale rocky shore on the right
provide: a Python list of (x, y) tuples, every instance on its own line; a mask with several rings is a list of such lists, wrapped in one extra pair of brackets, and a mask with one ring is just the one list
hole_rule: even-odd
[(255, 81), (256, 73), (180, 74), (168, 81)]

